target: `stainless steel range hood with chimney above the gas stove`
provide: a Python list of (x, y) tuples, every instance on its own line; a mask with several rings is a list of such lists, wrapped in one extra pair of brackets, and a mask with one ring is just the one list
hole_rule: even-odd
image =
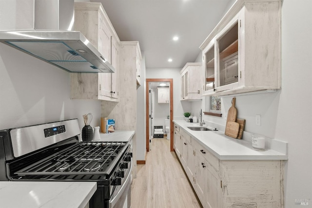
[[(105, 59), (81, 32), (63, 30), (70, 28), (68, 25), (73, 25), (74, 0), (33, 0), (33, 3), (36, 29), (0, 31), (0, 42), (68, 72), (115, 72), (109, 60)], [(51, 12), (51, 8), (55, 9)], [(58, 30), (51, 28), (51, 19), (59, 21)]]

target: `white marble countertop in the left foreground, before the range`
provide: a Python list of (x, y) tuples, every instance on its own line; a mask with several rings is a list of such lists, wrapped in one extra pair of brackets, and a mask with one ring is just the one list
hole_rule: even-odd
[(96, 182), (1, 181), (1, 208), (84, 208)]

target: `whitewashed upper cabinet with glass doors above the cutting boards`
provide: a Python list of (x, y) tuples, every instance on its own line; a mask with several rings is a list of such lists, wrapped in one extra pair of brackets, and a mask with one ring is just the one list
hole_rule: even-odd
[(279, 89), (280, 0), (237, 0), (200, 46), (202, 95)]

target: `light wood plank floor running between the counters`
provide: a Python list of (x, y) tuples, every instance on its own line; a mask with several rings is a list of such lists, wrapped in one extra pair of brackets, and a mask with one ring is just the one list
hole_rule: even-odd
[(131, 185), (131, 208), (201, 208), (170, 141), (152, 139), (146, 164), (137, 165)]

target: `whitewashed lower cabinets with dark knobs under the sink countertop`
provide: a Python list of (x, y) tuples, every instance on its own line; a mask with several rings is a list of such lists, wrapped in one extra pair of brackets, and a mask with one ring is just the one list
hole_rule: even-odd
[(284, 207), (283, 161), (219, 160), (177, 128), (176, 154), (203, 208)]

